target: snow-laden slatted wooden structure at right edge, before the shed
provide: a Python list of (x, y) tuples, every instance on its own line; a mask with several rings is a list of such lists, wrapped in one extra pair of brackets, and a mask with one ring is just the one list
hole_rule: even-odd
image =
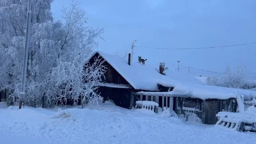
[(221, 111), (216, 116), (218, 118), (216, 125), (222, 125), (237, 131), (256, 131), (256, 115)]

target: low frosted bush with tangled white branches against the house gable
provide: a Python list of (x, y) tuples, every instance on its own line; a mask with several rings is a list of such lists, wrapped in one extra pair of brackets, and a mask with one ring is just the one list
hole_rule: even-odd
[(91, 103), (94, 100), (102, 100), (97, 93), (95, 83), (101, 82), (101, 76), (105, 72), (102, 65), (104, 60), (95, 58), (91, 64), (72, 62), (59, 62), (58, 67), (52, 69), (46, 82), (46, 100), (50, 103), (60, 102), (66, 104), (67, 101), (82, 100), (82, 103)]

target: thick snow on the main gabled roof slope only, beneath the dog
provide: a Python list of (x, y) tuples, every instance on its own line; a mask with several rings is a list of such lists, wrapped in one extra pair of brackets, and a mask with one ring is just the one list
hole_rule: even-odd
[[(124, 77), (126, 81), (129, 82), (130, 85), (135, 89), (157, 91), (157, 82), (159, 80), (170, 82), (169, 84), (171, 84), (172, 87), (175, 86), (175, 83), (179, 83), (178, 81), (175, 82), (169, 77), (160, 74), (155, 70), (154, 67), (149, 67), (147, 65), (142, 66), (138, 62), (130, 62), (130, 65), (128, 65), (128, 60), (126, 62), (114, 55), (100, 51), (95, 53), (99, 53), (101, 57), (104, 58), (112, 67), (114, 67), (116, 71), (119, 72), (121, 76)], [(92, 54), (92, 56), (94, 54)]]

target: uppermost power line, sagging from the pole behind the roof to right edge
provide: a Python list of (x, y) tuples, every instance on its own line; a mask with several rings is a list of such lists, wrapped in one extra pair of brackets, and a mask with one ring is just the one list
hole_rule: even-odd
[(240, 45), (248, 45), (248, 44), (255, 44), (254, 43), (242, 43), (242, 44), (233, 44), (233, 45), (224, 45), (224, 46), (216, 46), (216, 47), (199, 47), (199, 48), (154, 48), (154, 47), (143, 47), (143, 46), (134, 46), (137, 48), (151, 48), (151, 49), (208, 49), (208, 48), (223, 48), (223, 47), (233, 47), (233, 46), (240, 46)]

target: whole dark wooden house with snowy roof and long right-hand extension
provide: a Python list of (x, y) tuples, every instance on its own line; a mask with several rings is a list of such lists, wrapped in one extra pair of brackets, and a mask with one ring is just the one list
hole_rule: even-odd
[[(197, 115), (203, 124), (215, 124), (219, 111), (237, 112), (237, 96), (251, 98), (250, 91), (207, 86), (191, 75), (166, 70), (164, 63), (159, 68), (125, 61), (103, 52), (95, 52), (90, 63), (100, 56), (106, 67), (98, 92), (106, 101), (116, 106), (131, 109), (136, 101), (155, 101), (162, 110), (170, 108), (178, 115)], [(239, 99), (240, 100), (240, 99)], [(156, 110), (158, 111), (158, 110)]]

